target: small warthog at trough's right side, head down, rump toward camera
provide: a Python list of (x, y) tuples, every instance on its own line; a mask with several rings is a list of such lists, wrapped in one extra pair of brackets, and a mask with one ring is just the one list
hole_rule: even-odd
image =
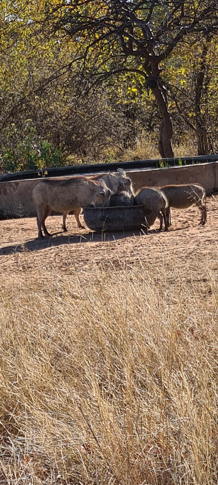
[(146, 209), (151, 210), (153, 214), (160, 220), (159, 231), (163, 228), (163, 219), (165, 230), (168, 230), (166, 209), (168, 207), (167, 197), (162, 191), (156, 188), (143, 187), (135, 196), (135, 204), (137, 206), (144, 206)]

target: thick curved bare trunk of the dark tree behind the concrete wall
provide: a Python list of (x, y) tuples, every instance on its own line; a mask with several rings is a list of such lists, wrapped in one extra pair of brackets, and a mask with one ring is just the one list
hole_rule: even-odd
[(154, 94), (160, 113), (162, 114), (158, 140), (160, 156), (161, 158), (173, 158), (174, 154), (171, 145), (172, 120), (168, 109), (167, 90), (157, 77), (150, 76), (147, 79), (147, 84)]

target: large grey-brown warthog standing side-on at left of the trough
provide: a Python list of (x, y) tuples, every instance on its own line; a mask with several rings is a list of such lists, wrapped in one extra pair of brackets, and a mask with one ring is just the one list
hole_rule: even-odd
[(90, 205), (109, 206), (110, 195), (110, 189), (101, 179), (94, 181), (87, 177), (74, 177), (67, 180), (42, 180), (32, 191), (39, 238), (43, 238), (42, 228), (45, 235), (50, 236), (45, 220), (51, 210), (68, 213)]

